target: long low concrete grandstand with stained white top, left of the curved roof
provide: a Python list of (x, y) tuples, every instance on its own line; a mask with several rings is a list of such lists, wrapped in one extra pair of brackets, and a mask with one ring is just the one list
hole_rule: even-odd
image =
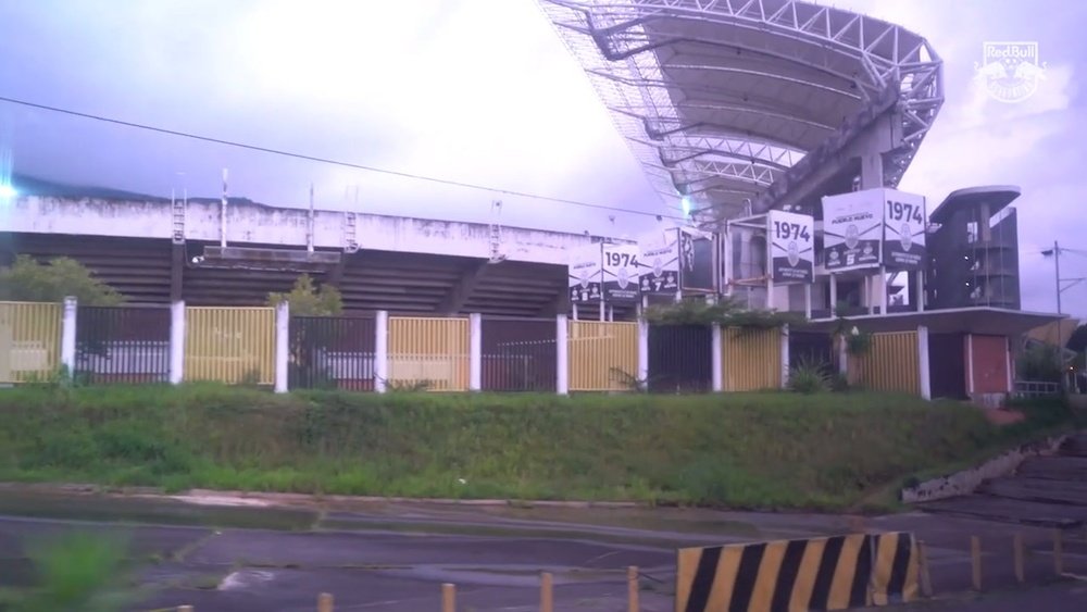
[(0, 258), (72, 257), (137, 304), (261, 305), (305, 272), (337, 285), (350, 311), (547, 316), (566, 308), (567, 249), (602, 240), (340, 211), (313, 211), (311, 223), (307, 210), (243, 199), (16, 185)]

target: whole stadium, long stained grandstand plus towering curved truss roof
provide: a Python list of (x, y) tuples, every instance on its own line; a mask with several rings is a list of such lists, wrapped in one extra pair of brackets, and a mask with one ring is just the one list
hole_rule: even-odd
[[(873, 330), (925, 327), (947, 335), (940, 340), (947, 346), (965, 347), (957, 351), (963, 373), (948, 383), (950, 395), (975, 390), (972, 336), (1001, 338), (976, 350), (996, 351), (990, 361), (1000, 373), (990, 377), (1001, 384), (994, 392), (1010, 391), (1009, 338), (1053, 320), (1017, 311), (1009, 205), (1017, 188), (957, 191), (938, 208), (941, 223), (928, 220), (925, 197), (916, 196), (925, 211), (915, 215), (920, 230), (901, 242), (909, 251), (911, 243), (925, 248), (927, 239), (927, 251), (899, 258), (900, 265), (887, 255), (830, 270), (826, 260), (826, 252), (832, 259), (839, 252), (827, 234), (827, 202), (876, 193), (882, 217), (882, 199), (898, 193), (937, 118), (942, 63), (921, 35), (789, 0), (541, 0), (540, 8), (660, 196), (661, 214), (687, 217), (671, 234), (674, 246), (667, 232), (635, 243), (497, 222), (275, 209), (225, 191), (217, 199), (165, 199), (16, 177), (0, 257), (75, 258), (130, 304), (263, 305), (270, 292), (288, 290), (308, 273), (338, 287), (350, 312), (597, 319), (599, 307), (600, 320), (629, 321), (652, 301), (727, 295), (802, 312), (812, 332), (823, 334), (844, 307)], [(801, 220), (798, 228), (810, 223), (804, 250), (771, 239), (770, 227), (783, 214)], [(876, 251), (894, 243), (883, 239), (888, 223), (880, 225)], [(941, 233), (941, 224), (953, 230)], [(954, 228), (970, 224), (982, 235), (960, 243)], [(685, 236), (697, 239), (684, 242)], [(685, 261), (698, 260), (699, 272), (680, 273), (687, 257), (680, 251), (696, 242)], [(845, 242), (841, 252), (854, 248), (857, 236)], [(645, 257), (622, 271), (601, 261), (608, 249), (644, 255), (661, 243), (673, 255), (657, 270), (647, 270), (653, 266)], [(779, 277), (778, 247), (791, 249), (790, 265), (808, 272)], [(926, 287), (926, 276), (963, 257), (976, 264), (970, 278)], [(647, 290), (647, 276), (660, 276), (662, 265), (672, 265), (664, 273), (674, 271), (679, 280)], [(596, 276), (577, 276), (575, 266)], [(624, 286), (627, 277), (641, 277), (642, 290), (615, 292), (612, 300), (607, 290), (577, 288), (607, 285), (609, 275)], [(959, 296), (963, 283), (974, 289)]]

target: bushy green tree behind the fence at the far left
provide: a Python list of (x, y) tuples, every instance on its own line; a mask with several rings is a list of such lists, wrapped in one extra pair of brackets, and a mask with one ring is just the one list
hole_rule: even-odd
[(117, 305), (124, 301), (113, 287), (71, 258), (38, 263), (29, 255), (18, 255), (13, 264), (0, 268), (0, 300), (59, 302), (68, 296), (80, 305)]

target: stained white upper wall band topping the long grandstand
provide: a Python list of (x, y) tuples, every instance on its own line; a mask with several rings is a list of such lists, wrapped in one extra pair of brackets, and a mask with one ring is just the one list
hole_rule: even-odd
[[(346, 246), (345, 212), (316, 211), (314, 245)], [(357, 214), (354, 239), (362, 249), (488, 258), (490, 226), (411, 217)], [(4, 232), (168, 239), (173, 230), (170, 202), (70, 198), (18, 198), (0, 218)], [(304, 247), (307, 211), (232, 202), (227, 207), (227, 242)], [(220, 239), (220, 204), (189, 201), (185, 237)], [(567, 250), (599, 242), (599, 237), (503, 227), (500, 251), (511, 261), (565, 265)]]

